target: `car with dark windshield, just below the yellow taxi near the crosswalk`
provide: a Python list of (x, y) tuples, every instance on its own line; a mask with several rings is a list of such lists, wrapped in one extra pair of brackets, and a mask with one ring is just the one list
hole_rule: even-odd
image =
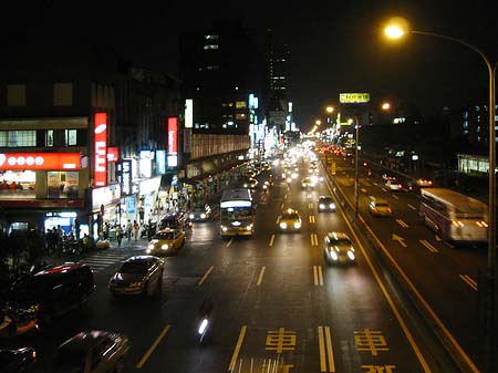
[(152, 296), (163, 283), (164, 261), (154, 256), (126, 259), (108, 281), (108, 290), (118, 296)]

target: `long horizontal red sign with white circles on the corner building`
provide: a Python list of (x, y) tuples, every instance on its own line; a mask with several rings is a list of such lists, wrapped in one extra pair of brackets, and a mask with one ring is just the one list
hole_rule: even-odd
[(0, 153), (0, 170), (81, 169), (80, 153)]

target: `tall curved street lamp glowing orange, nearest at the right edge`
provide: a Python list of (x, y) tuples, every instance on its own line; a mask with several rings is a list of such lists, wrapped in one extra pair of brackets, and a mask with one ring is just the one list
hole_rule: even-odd
[(461, 44), (471, 51), (479, 54), (483, 59), (486, 68), (488, 70), (489, 77), (489, 105), (488, 105), (488, 114), (489, 114), (489, 195), (488, 195), (488, 216), (489, 216), (489, 227), (488, 227), (488, 262), (487, 262), (487, 273), (486, 273), (486, 283), (487, 283), (487, 297), (486, 301), (488, 302), (486, 307), (486, 366), (487, 372), (495, 372), (495, 361), (494, 361), (494, 325), (495, 325), (495, 274), (496, 274), (496, 101), (495, 101), (495, 87), (496, 87), (496, 68), (498, 61), (492, 64), (489, 58), (476, 48), (473, 44), (467, 43), (466, 41), (442, 35), (439, 33), (426, 32), (426, 31), (416, 31), (411, 30), (408, 28), (408, 22), (402, 18), (392, 19), (391, 22), (384, 28), (385, 34), (390, 39), (400, 39), (404, 37), (406, 33), (434, 37), (438, 39), (444, 39), (447, 41), (456, 42)]

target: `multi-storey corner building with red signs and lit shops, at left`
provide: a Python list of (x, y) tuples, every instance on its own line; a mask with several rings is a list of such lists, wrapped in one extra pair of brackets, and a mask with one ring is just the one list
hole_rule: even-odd
[(3, 228), (96, 237), (105, 224), (149, 218), (167, 151), (178, 147), (177, 81), (90, 44), (9, 52), (0, 69)]

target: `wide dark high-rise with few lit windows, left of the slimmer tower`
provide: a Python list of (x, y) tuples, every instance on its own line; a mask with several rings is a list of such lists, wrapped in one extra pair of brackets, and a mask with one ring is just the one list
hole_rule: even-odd
[(249, 96), (261, 96), (263, 72), (258, 32), (240, 20), (183, 34), (180, 79), (193, 103), (193, 133), (249, 134)]

